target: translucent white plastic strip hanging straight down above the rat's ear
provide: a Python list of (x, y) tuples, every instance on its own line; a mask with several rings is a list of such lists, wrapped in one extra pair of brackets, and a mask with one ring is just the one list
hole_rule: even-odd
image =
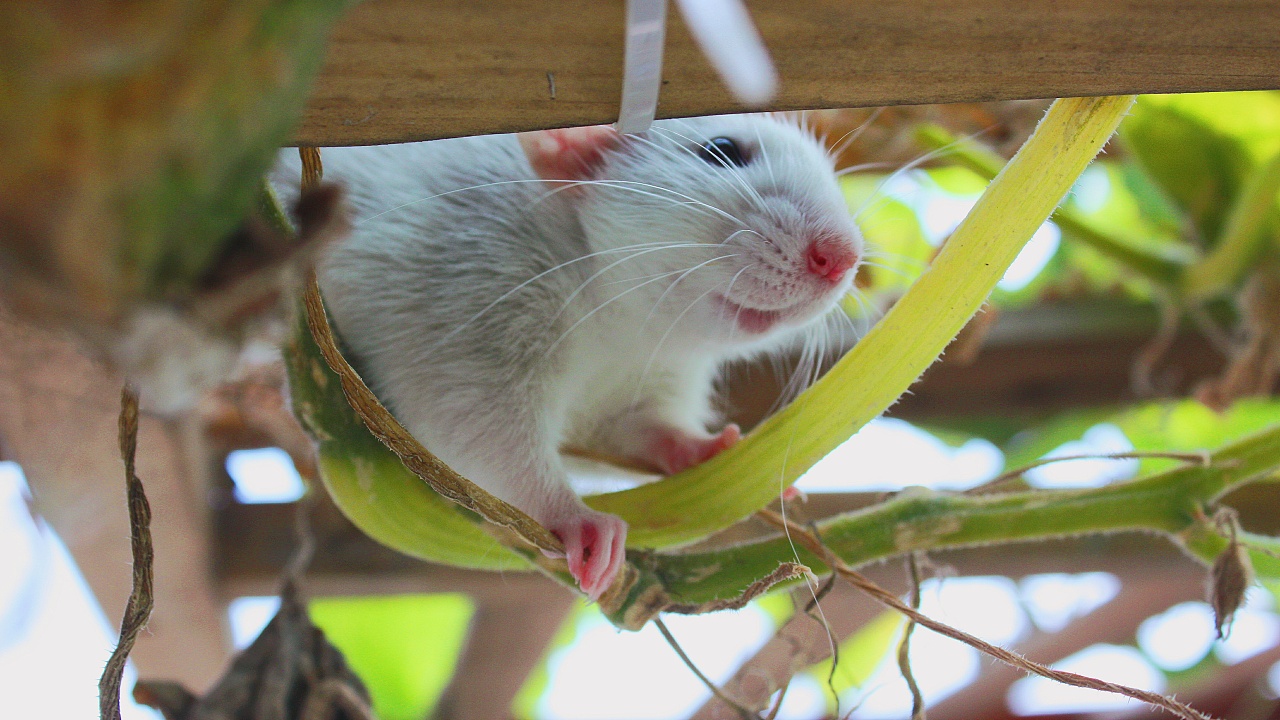
[(667, 35), (667, 0), (627, 0), (627, 41), (622, 65), (618, 132), (649, 129), (658, 113), (662, 46)]

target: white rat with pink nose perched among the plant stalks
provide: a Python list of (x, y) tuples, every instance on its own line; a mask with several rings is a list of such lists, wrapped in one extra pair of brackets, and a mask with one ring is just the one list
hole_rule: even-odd
[(320, 268), (356, 366), (424, 446), (556, 533), (591, 598), (627, 527), (573, 493), (561, 448), (676, 473), (732, 446), (736, 425), (708, 432), (721, 366), (818, 327), (863, 254), (832, 160), (772, 117), (323, 159), (356, 215)]

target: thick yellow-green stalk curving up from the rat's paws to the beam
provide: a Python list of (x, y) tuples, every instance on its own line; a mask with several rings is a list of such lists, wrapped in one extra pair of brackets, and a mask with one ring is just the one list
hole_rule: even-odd
[(1115, 132), (1133, 96), (1057, 100), (932, 266), (827, 375), (736, 447), (678, 475), (588, 498), (671, 547), (759, 510), (892, 405), (982, 306)]

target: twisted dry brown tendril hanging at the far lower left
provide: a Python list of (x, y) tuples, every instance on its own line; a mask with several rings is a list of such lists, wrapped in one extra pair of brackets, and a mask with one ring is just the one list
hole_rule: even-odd
[(134, 459), (138, 450), (138, 392), (125, 384), (120, 389), (119, 420), (120, 457), (124, 460), (124, 483), (129, 505), (129, 542), (133, 547), (133, 591), (124, 606), (120, 620), (120, 641), (111, 652), (102, 678), (97, 683), (99, 717), (101, 720), (120, 720), (120, 683), (124, 678), (124, 664), (138, 633), (147, 624), (154, 605), (151, 546), (151, 506), (147, 503), (142, 480), (134, 471)]

